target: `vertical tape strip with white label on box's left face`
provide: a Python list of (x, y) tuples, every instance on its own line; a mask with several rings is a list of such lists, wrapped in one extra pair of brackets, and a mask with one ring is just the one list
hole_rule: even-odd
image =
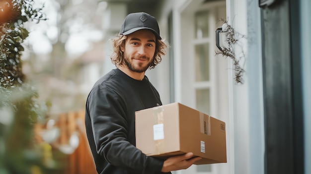
[(154, 116), (154, 140), (156, 146), (156, 154), (163, 153), (164, 150), (164, 108), (162, 106), (153, 109)]

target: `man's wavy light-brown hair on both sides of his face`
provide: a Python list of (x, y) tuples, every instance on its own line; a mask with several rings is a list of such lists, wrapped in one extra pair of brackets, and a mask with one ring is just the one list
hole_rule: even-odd
[[(124, 52), (121, 51), (121, 48), (125, 48), (125, 41), (127, 36), (117, 34), (116, 38), (112, 39), (113, 52), (110, 56), (111, 61), (116, 67), (123, 65), (124, 63)], [(156, 39), (156, 51), (154, 55), (154, 61), (150, 64), (149, 69), (155, 68), (155, 66), (161, 62), (162, 56), (165, 55), (165, 49), (167, 45), (161, 41)]]

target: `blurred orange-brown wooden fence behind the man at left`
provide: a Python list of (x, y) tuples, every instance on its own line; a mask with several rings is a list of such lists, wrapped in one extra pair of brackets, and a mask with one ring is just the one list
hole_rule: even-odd
[[(58, 130), (58, 136), (52, 143), (46, 143), (42, 138), (42, 132), (52, 130), (52, 127)], [(84, 111), (61, 114), (53, 119), (52, 125), (36, 125), (35, 132), (39, 143), (50, 146), (51, 150), (47, 153), (49, 155), (46, 155), (46, 160), (53, 159), (61, 164), (57, 170), (59, 174), (97, 174), (86, 138)], [(75, 136), (72, 141), (78, 140), (78, 146), (70, 145), (73, 144), (70, 143), (72, 135)]]

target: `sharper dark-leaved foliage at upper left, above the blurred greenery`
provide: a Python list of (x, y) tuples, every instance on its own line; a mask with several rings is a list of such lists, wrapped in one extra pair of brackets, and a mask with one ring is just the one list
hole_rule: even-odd
[(0, 24), (0, 86), (20, 85), (25, 80), (21, 67), (21, 55), (24, 51), (23, 41), (28, 37), (24, 28), (27, 21), (46, 20), (42, 8), (32, 9), (34, 0), (12, 0), (11, 17)]

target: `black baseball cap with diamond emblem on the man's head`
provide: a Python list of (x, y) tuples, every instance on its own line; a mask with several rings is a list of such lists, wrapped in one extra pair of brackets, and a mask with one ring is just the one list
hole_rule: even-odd
[(128, 14), (121, 26), (120, 34), (128, 35), (141, 29), (149, 29), (156, 35), (156, 39), (162, 39), (156, 18), (145, 12)]

